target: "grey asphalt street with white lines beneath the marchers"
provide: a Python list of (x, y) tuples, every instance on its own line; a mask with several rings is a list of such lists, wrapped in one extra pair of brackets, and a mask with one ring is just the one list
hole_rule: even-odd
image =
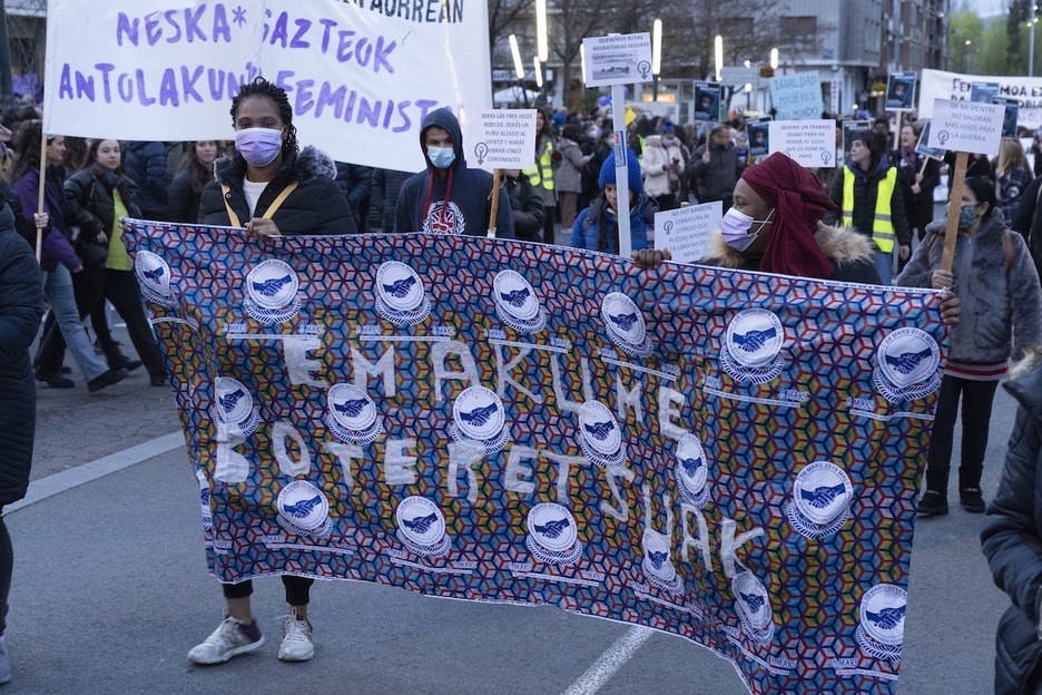
[[(260, 653), (190, 666), (185, 654), (216, 627), (223, 601), (204, 566), (198, 488), (178, 443), (173, 398), (140, 371), (95, 395), (73, 379), (76, 390), (39, 391), (29, 503), (7, 512), (16, 552), (7, 633), (14, 678), (3, 693), (746, 692), (727, 662), (680, 638), (556, 608), (346, 583), (314, 590), (315, 660), (282, 664), (276, 617), (284, 604), (274, 579), (259, 581), (255, 596), (267, 636)], [(1000, 390), (989, 492), (1013, 414)], [(1006, 599), (980, 551), (982, 522), (955, 506), (916, 529), (902, 693), (991, 692), (994, 629)]]

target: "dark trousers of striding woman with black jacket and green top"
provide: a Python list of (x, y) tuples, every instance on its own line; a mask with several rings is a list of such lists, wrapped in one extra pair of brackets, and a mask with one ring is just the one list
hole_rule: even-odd
[[(148, 324), (148, 316), (145, 315), (141, 291), (132, 271), (114, 271), (88, 265), (72, 275), (72, 286), (76, 290), (76, 306), (79, 309), (80, 319), (89, 315), (104, 300), (108, 300), (127, 323), (130, 342), (134, 343), (134, 349), (148, 373), (166, 373), (159, 343), (156, 342), (156, 334)], [(61, 337), (61, 331), (55, 325), (43, 335), (36, 363), (41, 372), (56, 374), (61, 370), (63, 361), (65, 340)]]

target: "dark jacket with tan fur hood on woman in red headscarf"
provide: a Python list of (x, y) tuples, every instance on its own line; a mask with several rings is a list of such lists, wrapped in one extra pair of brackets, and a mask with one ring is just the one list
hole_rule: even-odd
[[(879, 284), (879, 274), (875, 270), (872, 241), (846, 227), (829, 227), (818, 224), (814, 238), (822, 251), (832, 261), (833, 274), (829, 277), (817, 280), (836, 280), (839, 282)], [(717, 267), (734, 268), (737, 271), (759, 271), (760, 257), (746, 257), (724, 243), (719, 232), (709, 237), (709, 248), (706, 257), (699, 265), (715, 265)]]

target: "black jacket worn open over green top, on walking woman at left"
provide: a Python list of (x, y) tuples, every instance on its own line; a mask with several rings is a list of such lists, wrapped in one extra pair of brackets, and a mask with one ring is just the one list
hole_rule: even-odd
[(67, 178), (65, 189), (69, 200), (69, 224), (79, 226), (81, 238), (92, 241), (102, 232), (106, 237), (112, 236), (116, 222), (114, 190), (119, 190), (129, 216), (141, 216), (141, 209), (137, 206), (137, 185), (99, 164), (92, 164)]

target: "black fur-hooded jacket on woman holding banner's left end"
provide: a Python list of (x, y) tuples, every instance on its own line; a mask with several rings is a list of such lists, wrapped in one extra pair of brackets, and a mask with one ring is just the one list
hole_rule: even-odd
[[(252, 215), (246, 194), (243, 193), (243, 178), (246, 176), (246, 160), (242, 155), (222, 157), (214, 163), (215, 180), (203, 189), (199, 202), (199, 222), (208, 225), (230, 226), (232, 221), (225, 208), (220, 185), (228, 186), (228, 205), (238, 215), (239, 223), (246, 224)], [(355, 234), (354, 215), (351, 205), (336, 184), (336, 167), (330, 157), (315, 147), (305, 147), (298, 155), (283, 159), (275, 178), (268, 182), (257, 200), (254, 216), (263, 217), (278, 194), (298, 182), (296, 189), (275, 211), (272, 219), (283, 234)]]

